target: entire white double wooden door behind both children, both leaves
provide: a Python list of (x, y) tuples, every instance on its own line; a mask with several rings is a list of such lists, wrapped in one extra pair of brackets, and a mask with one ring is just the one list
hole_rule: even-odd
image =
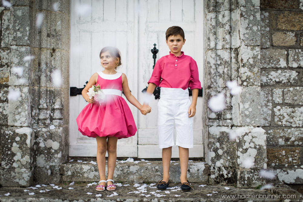
[[(82, 88), (93, 73), (103, 70), (99, 60), (101, 48), (107, 45), (116, 46), (121, 51), (123, 64), (118, 71), (127, 75), (132, 94), (142, 103), (141, 91), (147, 86), (153, 66), (150, 50), (156, 43), (159, 49), (157, 59), (168, 54), (165, 31), (173, 25), (184, 29), (186, 42), (183, 51), (197, 61), (202, 83), (202, 0), (72, 0), (70, 2), (70, 86)], [(92, 10), (90, 11), (89, 8)], [(128, 103), (138, 132), (133, 137), (118, 140), (118, 157), (161, 158), (161, 150), (158, 149), (157, 102), (158, 100), (152, 99), (150, 104), (152, 112), (147, 116), (143, 116), (137, 108)], [(194, 118), (194, 148), (190, 149), (190, 157), (203, 157), (201, 97), (198, 98), (197, 103)], [(70, 97), (70, 156), (96, 155), (95, 138), (83, 136), (78, 132), (75, 121), (86, 104), (81, 95)], [(178, 157), (177, 147), (173, 147), (172, 157)]]

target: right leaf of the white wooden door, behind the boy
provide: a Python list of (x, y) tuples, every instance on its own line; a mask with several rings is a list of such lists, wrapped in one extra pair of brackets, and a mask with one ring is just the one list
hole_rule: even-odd
[[(147, 85), (154, 61), (151, 54), (153, 44), (159, 50), (157, 59), (169, 54), (165, 42), (165, 31), (171, 26), (180, 26), (185, 32), (185, 45), (182, 51), (197, 61), (199, 79), (203, 75), (203, 1), (202, 0), (140, 0), (139, 1), (139, 86)], [(143, 89), (143, 88), (140, 88)], [(139, 99), (143, 95), (139, 94)], [(157, 103), (152, 96), (151, 113), (139, 119), (138, 157), (161, 158), (158, 148)], [(191, 98), (191, 97), (190, 97)], [(203, 157), (202, 143), (202, 98), (199, 97), (194, 117), (194, 148), (190, 157)], [(172, 147), (172, 157), (179, 157), (178, 147)]]

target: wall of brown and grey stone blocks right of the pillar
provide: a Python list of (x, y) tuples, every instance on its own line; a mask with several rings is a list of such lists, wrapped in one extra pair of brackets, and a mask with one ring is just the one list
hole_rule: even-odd
[(303, 183), (303, 1), (261, 0), (261, 99), (267, 165)]

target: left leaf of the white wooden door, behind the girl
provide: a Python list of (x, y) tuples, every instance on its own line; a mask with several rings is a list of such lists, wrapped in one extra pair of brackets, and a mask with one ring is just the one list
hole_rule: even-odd
[[(138, 94), (137, 41), (138, 22), (134, 11), (136, 0), (72, 0), (70, 1), (70, 86), (82, 88), (97, 71), (104, 70), (99, 53), (105, 46), (121, 51), (122, 66), (118, 71), (127, 75), (132, 94)], [(124, 97), (124, 95), (123, 95)], [(124, 97), (126, 100), (126, 98)], [(127, 101), (127, 100), (126, 100)], [(128, 101), (127, 101), (128, 102)], [(69, 156), (96, 156), (95, 138), (78, 131), (76, 118), (88, 104), (82, 97), (70, 96)], [(128, 102), (135, 122), (138, 109)], [(120, 139), (118, 157), (137, 157), (138, 135)]]

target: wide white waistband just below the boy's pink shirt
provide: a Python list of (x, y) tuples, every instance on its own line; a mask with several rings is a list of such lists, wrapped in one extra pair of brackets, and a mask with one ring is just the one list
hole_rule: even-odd
[(182, 88), (161, 87), (160, 98), (174, 99), (174, 100), (188, 99), (189, 98), (188, 88), (183, 90)]

